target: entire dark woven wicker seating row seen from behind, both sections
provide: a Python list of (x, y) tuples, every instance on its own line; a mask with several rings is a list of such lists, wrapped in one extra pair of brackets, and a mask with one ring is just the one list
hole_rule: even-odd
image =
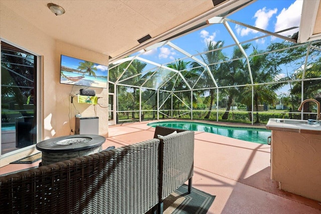
[(187, 180), (192, 185), (194, 132), (176, 131), (1, 176), (0, 207), (3, 213), (162, 213), (165, 197)]

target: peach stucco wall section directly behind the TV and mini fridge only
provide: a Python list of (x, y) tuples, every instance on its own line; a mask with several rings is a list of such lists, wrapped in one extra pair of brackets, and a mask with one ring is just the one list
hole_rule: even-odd
[[(99, 117), (99, 135), (107, 136), (108, 134), (108, 91), (106, 88), (95, 88), (89, 87), (88, 89), (94, 89), (96, 91), (96, 96), (98, 98), (99, 105), (92, 105), (86, 103), (78, 103), (77, 97), (74, 97), (73, 104), (70, 102), (70, 94), (78, 94), (81, 88), (86, 88), (78, 85), (66, 85), (60, 84), (60, 55), (67, 55), (78, 59), (83, 59), (103, 65), (108, 65), (108, 56), (104, 54), (99, 54), (90, 50), (82, 49), (79, 47), (72, 46), (60, 41), (56, 43), (56, 72), (55, 72), (55, 81), (57, 82), (56, 88), (56, 114), (57, 117), (56, 123), (59, 126), (56, 127), (57, 134), (69, 135), (69, 115), (71, 116), (72, 129), (75, 128), (75, 115), (79, 113), (82, 117)], [(69, 109), (71, 113), (69, 113)]]

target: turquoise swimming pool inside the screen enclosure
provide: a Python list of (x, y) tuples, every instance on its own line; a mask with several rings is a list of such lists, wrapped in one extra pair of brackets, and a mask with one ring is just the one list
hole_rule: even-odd
[(230, 138), (260, 144), (267, 144), (267, 138), (271, 136), (271, 131), (266, 129), (218, 126), (198, 122), (166, 121), (148, 123), (147, 125), (151, 127), (164, 126), (176, 129), (209, 132), (213, 134), (223, 135)]

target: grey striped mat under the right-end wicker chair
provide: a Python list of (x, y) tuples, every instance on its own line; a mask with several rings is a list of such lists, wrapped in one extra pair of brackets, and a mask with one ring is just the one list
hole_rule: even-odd
[[(189, 194), (188, 185), (183, 184), (172, 194), (164, 199), (164, 214), (171, 213), (197, 213), (205, 214), (215, 199), (215, 195), (208, 194), (199, 189), (193, 188)], [(151, 210), (146, 214), (151, 213)]]

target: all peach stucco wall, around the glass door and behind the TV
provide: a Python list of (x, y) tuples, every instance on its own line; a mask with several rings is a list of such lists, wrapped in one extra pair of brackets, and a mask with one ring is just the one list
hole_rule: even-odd
[[(42, 69), (40, 75), (41, 87), (39, 88), (39, 91), (41, 91), (42, 94), (42, 97), (39, 97), (39, 100), (41, 100), (41, 108), (39, 109), (41, 113), (40, 120), (42, 121), (42, 126), (39, 128), (41, 129), (42, 136), (40, 136), (39, 139), (45, 140), (69, 135), (70, 122), (72, 124), (72, 129), (74, 130), (74, 116), (78, 113), (72, 105), (71, 117), (69, 119), (69, 94), (78, 93), (81, 87), (73, 87), (72, 85), (59, 83), (60, 54), (103, 65), (108, 65), (108, 56), (56, 41), (50, 35), (47, 35), (46, 32), (43, 32), (32, 23), (26, 22), (19, 15), (13, 13), (9, 8), (1, 4), (1, 2), (0, 38), (2, 41), (42, 56)], [(99, 103), (102, 106), (108, 106), (107, 89), (90, 89), (95, 89), (96, 94), (102, 97), (99, 99)], [(99, 117), (99, 134), (103, 136), (108, 135), (107, 108), (102, 108), (97, 105), (95, 110), (93, 105), (78, 103), (75, 103), (75, 106), (84, 117)], [(29, 149), (25, 149), (21, 153), (15, 154), (15, 157), (7, 159), (8, 161), (11, 161), (35, 152), (38, 152), (38, 150), (35, 150), (34, 146), (31, 146)], [(8, 161), (2, 156), (0, 167), (8, 164)]]

